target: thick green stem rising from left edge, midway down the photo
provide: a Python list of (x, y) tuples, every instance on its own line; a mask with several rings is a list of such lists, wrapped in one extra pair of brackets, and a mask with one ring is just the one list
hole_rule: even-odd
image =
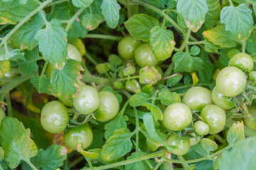
[(28, 74), (24, 74), (20, 77), (17, 77), (16, 79), (13, 79), (11, 83), (7, 84), (6, 86), (0, 89), (0, 94), (9, 93), (9, 91), (18, 86), (18, 84), (22, 84), (24, 81), (27, 81), (28, 79), (30, 79), (30, 76)]

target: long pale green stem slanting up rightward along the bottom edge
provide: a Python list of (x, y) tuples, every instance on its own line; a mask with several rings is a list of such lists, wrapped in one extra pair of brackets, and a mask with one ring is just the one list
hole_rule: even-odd
[[(127, 160), (122, 161), (122, 162), (117, 162), (117, 163), (114, 163), (114, 164), (108, 164), (108, 165), (105, 165), (105, 166), (97, 166), (97, 167), (94, 167), (93, 170), (110, 169), (110, 168), (114, 168), (114, 167), (117, 167), (117, 166), (122, 166), (122, 165), (125, 165), (125, 164), (132, 164), (134, 162), (144, 161), (146, 159), (152, 159), (152, 158), (155, 158), (155, 157), (162, 157), (165, 153), (166, 153), (165, 150), (161, 150), (159, 152), (154, 152), (154, 153), (151, 153), (151, 154), (147, 154), (147, 155), (142, 156), (142, 157), (137, 157), (137, 158), (134, 158), (134, 159), (127, 159)], [(90, 168), (83, 168), (82, 170), (89, 170), (89, 169)]]

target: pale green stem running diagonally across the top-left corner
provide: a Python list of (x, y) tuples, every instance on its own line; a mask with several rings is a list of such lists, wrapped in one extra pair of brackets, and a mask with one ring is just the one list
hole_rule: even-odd
[(20, 21), (5, 37), (4, 40), (0, 43), (0, 47), (4, 44), (4, 42), (6, 42), (7, 40), (9, 40), (9, 38), (11, 38), (11, 35), (13, 35), (16, 30), (18, 30), (18, 28), (20, 28), (21, 26), (23, 26), (24, 23), (26, 23), (32, 16), (36, 15), (36, 13), (38, 13), (38, 11), (40, 11), (41, 9), (43, 9), (46, 5), (50, 4), (53, 0), (47, 0), (44, 1), (42, 3), (41, 6), (38, 6), (38, 8), (36, 8), (34, 11), (32, 11), (31, 13), (28, 14), (28, 16), (26, 16), (25, 18), (23, 18), (22, 21)]

